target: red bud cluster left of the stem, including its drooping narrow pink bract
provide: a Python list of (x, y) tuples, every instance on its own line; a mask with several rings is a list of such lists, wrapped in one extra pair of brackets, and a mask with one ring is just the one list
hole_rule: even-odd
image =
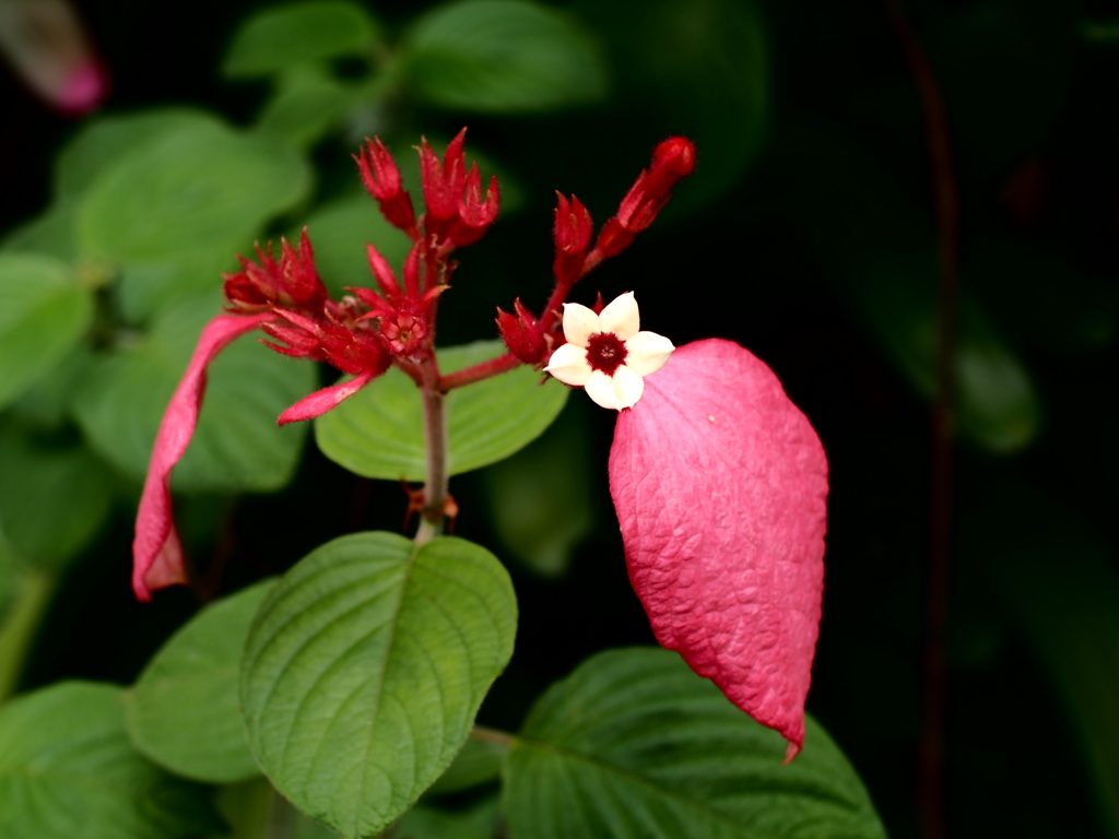
[[(151, 592), (186, 582), (182, 548), (171, 513), (170, 477), (194, 435), (209, 362), (237, 337), (260, 329), (278, 352), (325, 361), (352, 378), (300, 399), (279, 423), (319, 416), (352, 396), (396, 365), (416, 381), (420, 365), (434, 359), (435, 309), (446, 291), (454, 263), (451, 254), (481, 238), (497, 218), (497, 181), (482, 196), (478, 164), (466, 164), (463, 129), (442, 160), (426, 141), (420, 149), (426, 213), (417, 217), (403, 189), (401, 173), (379, 139), (355, 155), (369, 195), (391, 224), (412, 239), (404, 282), (373, 245), (369, 267), (379, 292), (350, 289), (332, 300), (314, 267), (304, 229), (294, 247), (281, 241), (256, 248), (256, 261), (238, 256), (242, 270), (225, 275), (226, 312), (211, 320), (195, 347), (186, 374), (163, 414), (152, 450), (137, 517), (132, 586), (140, 600)], [(438, 368), (436, 368), (438, 370)]]

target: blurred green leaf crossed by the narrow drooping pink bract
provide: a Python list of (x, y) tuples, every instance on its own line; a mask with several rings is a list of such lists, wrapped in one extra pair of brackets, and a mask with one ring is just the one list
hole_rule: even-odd
[[(181, 302), (151, 333), (94, 367), (74, 412), (90, 444), (126, 475), (142, 480), (156, 432), (216, 295)], [(302, 449), (304, 423), (279, 428), (276, 417), (314, 389), (314, 367), (267, 349), (253, 336), (227, 347), (209, 367), (194, 440), (176, 466), (184, 492), (267, 492), (283, 487)]]

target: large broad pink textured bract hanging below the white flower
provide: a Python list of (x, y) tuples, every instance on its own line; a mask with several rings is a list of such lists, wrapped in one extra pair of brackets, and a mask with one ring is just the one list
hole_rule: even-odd
[(610, 492), (657, 640), (789, 741), (824, 593), (827, 459), (777, 376), (724, 340), (678, 348), (618, 416)]

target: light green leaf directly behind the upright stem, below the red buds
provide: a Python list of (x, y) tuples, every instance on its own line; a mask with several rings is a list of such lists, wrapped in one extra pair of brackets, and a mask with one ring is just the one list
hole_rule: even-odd
[[(454, 373), (504, 350), (500, 341), (440, 350), (440, 369)], [(560, 414), (567, 393), (558, 381), (540, 384), (528, 367), (452, 390), (450, 473), (495, 463), (530, 443)], [(395, 368), (316, 420), (314, 439), (323, 454), (366, 478), (420, 481), (426, 472), (420, 390)]]

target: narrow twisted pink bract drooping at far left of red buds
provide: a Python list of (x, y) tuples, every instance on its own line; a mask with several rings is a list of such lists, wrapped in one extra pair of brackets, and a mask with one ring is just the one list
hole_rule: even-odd
[(271, 312), (251, 317), (219, 314), (198, 337), (187, 371), (163, 412), (140, 497), (137, 535), (132, 541), (132, 590), (139, 600), (150, 601), (153, 591), (187, 582), (182, 546), (171, 513), (170, 481), (171, 469), (195, 434), (206, 390), (206, 367), (231, 341), (271, 317)]

